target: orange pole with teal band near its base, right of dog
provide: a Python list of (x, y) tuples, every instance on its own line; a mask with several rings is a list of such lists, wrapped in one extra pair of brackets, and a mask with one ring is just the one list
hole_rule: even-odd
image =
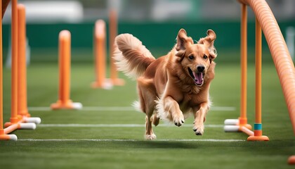
[(255, 124), (254, 135), (248, 137), (248, 141), (269, 141), (267, 136), (262, 135), (261, 124), (261, 49), (262, 49), (261, 25), (256, 18), (255, 24)]

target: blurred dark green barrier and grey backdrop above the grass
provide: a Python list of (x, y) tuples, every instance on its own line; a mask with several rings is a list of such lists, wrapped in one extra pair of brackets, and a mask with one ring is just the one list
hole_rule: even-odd
[[(27, 6), (27, 38), (31, 49), (31, 61), (57, 61), (58, 33), (72, 33), (72, 61), (93, 61), (93, 27), (98, 19), (107, 23), (111, 8), (118, 13), (118, 33), (131, 33), (138, 37), (155, 57), (166, 54), (175, 44), (178, 30), (184, 28), (188, 35), (198, 40), (206, 36), (206, 30), (216, 32), (215, 42), (218, 62), (240, 61), (240, 3), (235, 0), (87, 0), (87, 1), (19, 1)], [(268, 0), (270, 8), (284, 37), (287, 28), (295, 26), (295, 2)], [(39, 11), (36, 10), (39, 8)], [(59, 9), (60, 8), (60, 9)], [(10, 43), (10, 8), (4, 16), (4, 58), (8, 56)], [(42, 13), (44, 12), (44, 13)], [(254, 50), (255, 19), (248, 8), (248, 48)], [(108, 32), (108, 30), (107, 30)], [(108, 36), (108, 34), (107, 34)], [(109, 46), (107, 42), (107, 47)], [(263, 38), (264, 54), (269, 55)], [(40, 52), (43, 53), (40, 55)], [(233, 54), (228, 55), (228, 52)], [(249, 57), (253, 61), (253, 57)], [(272, 61), (263, 57), (263, 61)]]

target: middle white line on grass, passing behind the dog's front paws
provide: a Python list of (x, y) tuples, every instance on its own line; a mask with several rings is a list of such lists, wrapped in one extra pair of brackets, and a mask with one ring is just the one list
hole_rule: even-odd
[[(174, 125), (162, 124), (157, 127), (173, 127)], [(192, 125), (182, 125), (183, 127), (192, 127)], [(145, 127), (140, 124), (39, 124), (37, 127)], [(205, 125), (209, 128), (221, 128), (224, 125)]]

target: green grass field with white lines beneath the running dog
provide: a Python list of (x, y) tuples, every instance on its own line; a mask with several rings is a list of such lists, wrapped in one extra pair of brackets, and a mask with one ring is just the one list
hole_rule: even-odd
[[(4, 69), (4, 120), (10, 116), (11, 70)], [(249, 64), (248, 117), (254, 124), (254, 64)], [(124, 75), (120, 74), (120, 77)], [(81, 111), (49, 111), (58, 99), (57, 63), (32, 63), (27, 70), (29, 113), (36, 130), (17, 130), (17, 142), (0, 141), (1, 168), (294, 168), (295, 138), (273, 63), (263, 64), (263, 134), (269, 142), (247, 142), (243, 133), (223, 132), (223, 121), (240, 112), (240, 64), (218, 63), (211, 85), (214, 106), (203, 136), (183, 127), (155, 127), (145, 141), (145, 115), (131, 108), (136, 82), (91, 89), (92, 63), (73, 63), (71, 99)]]

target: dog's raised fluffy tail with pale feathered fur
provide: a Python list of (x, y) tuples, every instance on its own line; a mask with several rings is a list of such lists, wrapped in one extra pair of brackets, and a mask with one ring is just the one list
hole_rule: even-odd
[(118, 70), (136, 78), (143, 75), (147, 66), (156, 59), (139, 39), (122, 34), (114, 40), (114, 60)]

